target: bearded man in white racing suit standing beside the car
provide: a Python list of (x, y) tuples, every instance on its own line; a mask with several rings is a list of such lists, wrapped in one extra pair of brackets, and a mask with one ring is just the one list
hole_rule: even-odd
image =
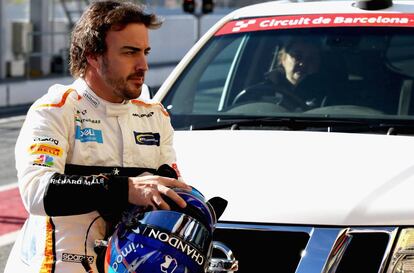
[[(30, 213), (5, 273), (98, 272), (95, 240), (128, 204), (179, 206), (173, 129), (162, 105), (140, 100), (148, 28), (161, 22), (121, 1), (92, 4), (72, 33), (69, 86), (30, 108), (16, 144)], [(94, 40), (95, 39), (95, 40)], [(137, 99), (138, 98), (138, 99)]]

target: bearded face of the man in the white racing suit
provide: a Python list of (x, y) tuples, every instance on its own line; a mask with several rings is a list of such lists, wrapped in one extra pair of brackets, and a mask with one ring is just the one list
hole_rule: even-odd
[(110, 30), (106, 45), (106, 53), (98, 58), (98, 78), (106, 89), (106, 99), (121, 102), (139, 97), (148, 70), (148, 29), (133, 23), (120, 31)]

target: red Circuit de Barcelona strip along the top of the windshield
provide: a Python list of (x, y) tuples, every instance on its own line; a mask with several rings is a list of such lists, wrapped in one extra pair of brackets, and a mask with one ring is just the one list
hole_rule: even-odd
[(414, 14), (335, 13), (250, 18), (228, 22), (215, 35), (310, 27), (414, 27)]

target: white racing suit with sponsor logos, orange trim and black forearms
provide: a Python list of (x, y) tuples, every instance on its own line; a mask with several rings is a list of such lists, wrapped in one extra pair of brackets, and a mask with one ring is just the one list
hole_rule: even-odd
[(84, 259), (97, 273), (94, 242), (107, 225), (99, 215), (120, 214), (128, 205), (127, 177), (157, 173), (165, 164), (179, 176), (162, 105), (109, 103), (83, 79), (52, 86), (32, 105), (15, 153), (30, 216), (5, 273), (84, 273)]

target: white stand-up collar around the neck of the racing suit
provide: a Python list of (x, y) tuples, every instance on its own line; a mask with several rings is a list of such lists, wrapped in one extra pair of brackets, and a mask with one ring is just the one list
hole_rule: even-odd
[(84, 97), (93, 107), (106, 113), (108, 117), (118, 117), (128, 114), (129, 100), (123, 103), (112, 103), (98, 97), (88, 86), (84, 79), (79, 78), (74, 82), (80, 96)]

